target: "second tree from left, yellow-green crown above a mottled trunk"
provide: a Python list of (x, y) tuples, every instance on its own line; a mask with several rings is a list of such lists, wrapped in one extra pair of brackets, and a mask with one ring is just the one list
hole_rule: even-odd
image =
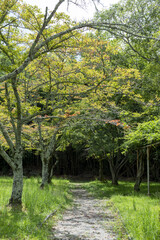
[[(81, 35), (78, 36), (80, 39)], [(55, 152), (56, 134), (58, 132), (55, 130), (56, 133), (53, 134), (53, 127), (56, 128), (57, 126), (57, 129), (59, 129), (60, 125), (60, 128), (62, 128), (69, 116), (73, 117), (77, 114), (75, 113), (75, 111), (78, 111), (76, 103), (82, 101), (86, 96), (88, 97), (90, 92), (96, 88), (96, 81), (100, 76), (94, 70), (88, 71), (85, 66), (81, 67), (82, 63), (77, 57), (77, 45), (81, 44), (80, 40), (77, 44), (72, 38), (67, 44), (67, 50), (61, 48), (60, 51), (56, 50), (55, 53), (50, 53), (45, 59), (35, 61), (34, 68), (29, 68), (27, 69), (28, 73), (26, 72), (26, 75), (31, 76), (29, 81), (33, 79), (32, 84), (26, 84), (28, 78), (24, 84), (25, 90), (23, 92), (27, 93), (25, 97), (26, 111), (27, 109), (29, 111), (29, 106), (34, 105), (36, 113), (38, 111), (37, 107), (39, 107), (39, 114), (41, 114), (41, 111), (43, 113), (41, 118), (39, 116), (32, 120), (38, 122), (39, 126), (39, 143), (36, 147), (41, 153), (42, 186), (48, 184), (50, 180), (49, 166)], [(33, 109), (32, 106), (31, 109)], [(50, 123), (44, 123), (44, 121), (42, 123), (42, 120), (45, 119), (50, 119)], [(50, 127), (51, 133), (48, 136), (45, 134), (44, 140), (45, 125), (48, 128)]]

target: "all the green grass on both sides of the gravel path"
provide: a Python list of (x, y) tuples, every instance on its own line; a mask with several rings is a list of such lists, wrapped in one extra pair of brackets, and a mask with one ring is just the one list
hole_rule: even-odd
[[(124, 223), (126, 231), (133, 240), (160, 239), (160, 184), (151, 183), (151, 196), (147, 196), (147, 185), (141, 185), (141, 192), (133, 191), (134, 183), (119, 182), (112, 186), (108, 181), (81, 183), (97, 198), (110, 199), (106, 206), (113, 207)], [(52, 235), (52, 226), (63, 210), (72, 203), (67, 180), (54, 179), (43, 190), (39, 179), (24, 179), (23, 209), (12, 210), (7, 207), (11, 195), (12, 179), (0, 177), (0, 239), (2, 240), (47, 240)], [(72, 186), (73, 187), (73, 186)], [(55, 210), (54, 217), (44, 219)], [(118, 226), (115, 226), (118, 229)], [(122, 228), (119, 228), (120, 231)], [(126, 239), (119, 237), (119, 239)]]

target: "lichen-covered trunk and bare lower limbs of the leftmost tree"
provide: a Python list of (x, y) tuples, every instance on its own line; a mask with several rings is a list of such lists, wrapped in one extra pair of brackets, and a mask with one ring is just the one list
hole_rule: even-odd
[(11, 134), (14, 134), (14, 141), (11, 139), (9, 131), (7, 131), (6, 127), (2, 123), (2, 121), (6, 121), (4, 118), (1, 118), (0, 122), (0, 130), (7, 142), (10, 153), (8, 154), (2, 144), (0, 147), (0, 154), (5, 159), (5, 161), (10, 165), (13, 170), (13, 188), (12, 195), (10, 198), (10, 204), (21, 203), (21, 195), (23, 189), (23, 167), (22, 167), (22, 140), (21, 140), (21, 132), (22, 132), (22, 112), (21, 112), (21, 101), (17, 91), (17, 82), (16, 80), (11, 81), (11, 88), (14, 94), (14, 106), (16, 106), (16, 113), (13, 116), (13, 102), (10, 99), (10, 93), (8, 90), (8, 84), (5, 84), (5, 93), (7, 100), (7, 109), (8, 109), (8, 117), (10, 119), (10, 123), (12, 126)]

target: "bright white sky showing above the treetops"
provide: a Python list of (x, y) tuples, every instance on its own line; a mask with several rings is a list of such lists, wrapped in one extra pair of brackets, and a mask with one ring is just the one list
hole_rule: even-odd
[[(24, 0), (24, 2), (31, 5), (37, 5), (39, 8), (41, 8), (42, 12), (45, 12), (46, 6), (51, 10), (54, 8), (58, 0)], [(119, 0), (101, 0), (101, 2), (104, 5), (104, 7), (109, 7), (111, 4), (119, 2)], [(97, 7), (99, 10), (104, 8), (100, 4), (97, 5)], [(63, 3), (59, 7), (59, 11), (66, 12), (66, 14), (70, 15), (70, 17), (73, 20), (80, 21), (88, 20), (89, 18), (91, 18), (94, 15), (95, 7), (93, 4), (90, 3), (90, 5), (88, 5), (88, 7), (85, 10), (82, 10), (72, 4), (69, 6), (69, 9), (67, 11), (67, 4)]]

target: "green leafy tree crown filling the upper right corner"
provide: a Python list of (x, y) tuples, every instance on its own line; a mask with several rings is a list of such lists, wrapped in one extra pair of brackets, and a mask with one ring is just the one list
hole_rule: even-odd
[(137, 92), (143, 97), (145, 105), (153, 100), (154, 108), (159, 98), (159, 8), (157, 0), (125, 0), (97, 14), (96, 18), (115, 25), (107, 36), (119, 39), (122, 46), (118, 62), (121, 66), (132, 66), (141, 72), (141, 81), (135, 83)]

